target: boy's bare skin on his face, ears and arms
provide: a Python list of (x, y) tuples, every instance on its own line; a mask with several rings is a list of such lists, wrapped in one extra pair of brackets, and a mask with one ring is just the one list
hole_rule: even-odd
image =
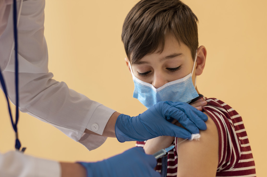
[[(201, 75), (205, 67), (206, 48), (200, 46), (197, 49), (197, 60), (192, 75), (192, 81), (195, 83), (195, 77)], [(129, 60), (125, 58), (128, 69)], [(140, 62), (132, 65), (133, 74), (141, 81), (152, 84), (159, 88), (164, 84), (181, 79), (190, 74), (193, 68), (194, 60), (190, 49), (182, 42), (180, 45), (172, 35), (166, 36), (164, 50), (162, 53), (156, 51), (147, 54), (140, 59)], [(131, 71), (130, 71), (131, 72)], [(196, 87), (199, 94), (199, 91)], [(208, 116), (206, 122), (207, 130), (200, 130), (201, 138), (199, 141), (186, 140), (178, 145), (178, 172), (177, 176), (216, 176), (218, 166), (219, 137), (218, 130)], [(174, 137), (160, 136), (148, 140), (144, 146), (147, 154), (153, 154), (156, 151), (171, 145)], [(178, 139), (178, 143), (183, 141)]]

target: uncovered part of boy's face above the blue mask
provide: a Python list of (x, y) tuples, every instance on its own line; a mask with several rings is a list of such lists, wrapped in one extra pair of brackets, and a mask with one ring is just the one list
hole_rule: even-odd
[[(128, 61), (125, 59), (126, 62)], [(129, 67), (129, 62), (128, 62)], [(164, 84), (181, 79), (192, 72), (194, 65), (189, 47), (172, 35), (166, 36), (162, 53), (155, 51), (132, 65), (135, 77), (152, 84), (156, 89)], [(197, 63), (195, 64), (195, 67)], [(195, 83), (195, 69), (192, 75)]]

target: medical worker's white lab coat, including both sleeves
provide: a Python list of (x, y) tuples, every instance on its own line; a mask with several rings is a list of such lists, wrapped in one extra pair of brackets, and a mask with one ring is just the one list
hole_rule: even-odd
[[(53, 125), (87, 149), (96, 149), (104, 143), (106, 137), (85, 134), (84, 130), (87, 128), (101, 135), (115, 111), (69, 89), (66, 83), (52, 79), (53, 74), (48, 72), (48, 51), (44, 37), (45, 0), (17, 2), (20, 111)], [(12, 16), (11, 7), (7, 26), (0, 36), (0, 66), (9, 98), (14, 103)], [(0, 154), (0, 176), (59, 175), (58, 162), (29, 157), (15, 151)]]

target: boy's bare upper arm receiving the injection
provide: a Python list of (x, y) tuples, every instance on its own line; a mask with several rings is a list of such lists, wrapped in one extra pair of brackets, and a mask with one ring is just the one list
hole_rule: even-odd
[[(184, 141), (178, 144), (177, 176), (216, 176), (218, 166), (218, 130), (210, 116), (207, 130), (200, 130), (200, 140)], [(178, 143), (182, 141), (179, 138)]]

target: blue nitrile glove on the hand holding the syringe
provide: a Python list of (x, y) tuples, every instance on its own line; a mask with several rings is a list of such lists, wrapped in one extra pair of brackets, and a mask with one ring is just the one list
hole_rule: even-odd
[(100, 162), (78, 162), (85, 167), (87, 177), (160, 177), (154, 170), (157, 161), (141, 147), (135, 147)]

